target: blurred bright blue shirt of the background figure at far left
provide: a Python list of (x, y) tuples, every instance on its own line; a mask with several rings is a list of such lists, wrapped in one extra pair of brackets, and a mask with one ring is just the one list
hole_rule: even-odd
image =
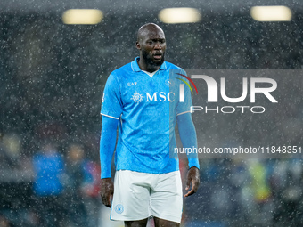
[(39, 196), (58, 195), (62, 191), (63, 159), (60, 155), (39, 154), (33, 159), (36, 181), (34, 191)]

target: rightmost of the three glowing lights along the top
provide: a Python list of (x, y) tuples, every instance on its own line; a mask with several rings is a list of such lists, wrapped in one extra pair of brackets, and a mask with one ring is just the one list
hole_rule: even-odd
[(291, 9), (283, 5), (254, 6), (250, 15), (258, 21), (291, 21)]

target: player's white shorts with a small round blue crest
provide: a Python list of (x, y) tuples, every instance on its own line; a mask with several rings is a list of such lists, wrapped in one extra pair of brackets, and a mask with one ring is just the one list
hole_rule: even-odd
[(116, 172), (111, 220), (136, 221), (155, 216), (181, 223), (182, 207), (179, 171), (168, 174)]

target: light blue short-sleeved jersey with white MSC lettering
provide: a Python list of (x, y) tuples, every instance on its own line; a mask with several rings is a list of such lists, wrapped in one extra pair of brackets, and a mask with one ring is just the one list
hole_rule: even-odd
[[(114, 70), (108, 78), (101, 114), (119, 119), (116, 170), (164, 174), (179, 169), (169, 151), (176, 147), (176, 116), (190, 112), (192, 98), (176, 73), (184, 70), (164, 61), (153, 75), (135, 61)], [(184, 77), (182, 77), (184, 79)]]

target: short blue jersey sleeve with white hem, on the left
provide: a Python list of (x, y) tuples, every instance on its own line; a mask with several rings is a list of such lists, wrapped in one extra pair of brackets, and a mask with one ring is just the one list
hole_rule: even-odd
[(101, 114), (119, 119), (122, 113), (120, 87), (116, 78), (111, 74), (106, 81), (102, 97)]

